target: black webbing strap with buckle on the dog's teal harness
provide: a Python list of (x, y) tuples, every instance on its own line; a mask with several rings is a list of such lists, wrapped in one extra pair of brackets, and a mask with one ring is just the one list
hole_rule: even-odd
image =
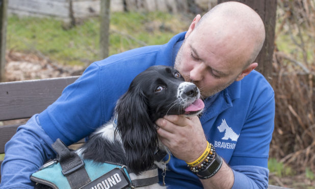
[(70, 151), (60, 139), (57, 139), (51, 146), (57, 153), (62, 174), (67, 178), (71, 188), (79, 188), (91, 181), (80, 156), (74, 151)]

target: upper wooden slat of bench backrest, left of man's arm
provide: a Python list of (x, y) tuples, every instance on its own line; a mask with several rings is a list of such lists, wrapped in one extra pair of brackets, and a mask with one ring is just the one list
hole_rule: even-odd
[(0, 121), (40, 113), (79, 76), (0, 83)]

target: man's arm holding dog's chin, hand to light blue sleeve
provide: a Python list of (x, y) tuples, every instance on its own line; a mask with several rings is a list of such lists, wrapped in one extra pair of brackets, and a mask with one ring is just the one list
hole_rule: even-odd
[[(160, 140), (178, 159), (194, 162), (206, 148), (206, 139), (197, 116), (187, 118), (168, 115), (158, 119)], [(196, 137), (198, 136), (198, 137)], [(200, 179), (204, 188), (267, 188), (268, 169), (258, 166), (234, 166), (224, 161), (211, 178)]]

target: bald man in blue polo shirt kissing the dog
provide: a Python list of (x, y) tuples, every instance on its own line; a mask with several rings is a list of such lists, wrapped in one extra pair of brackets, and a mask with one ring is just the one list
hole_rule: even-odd
[[(200, 88), (205, 104), (200, 118), (169, 115), (156, 121), (161, 141), (173, 154), (165, 176), (169, 188), (267, 188), (274, 92), (253, 71), (264, 40), (264, 24), (255, 11), (227, 2), (202, 18), (197, 15), (187, 33), (165, 45), (94, 62), (6, 144), (0, 187), (30, 188), (30, 174), (54, 157), (50, 145), (57, 138), (71, 144), (86, 137), (111, 118), (137, 74), (167, 65)], [(200, 179), (185, 162), (197, 160), (207, 141), (224, 161), (212, 177)]]

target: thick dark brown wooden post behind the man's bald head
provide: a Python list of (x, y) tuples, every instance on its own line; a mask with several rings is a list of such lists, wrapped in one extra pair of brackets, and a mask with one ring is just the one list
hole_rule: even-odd
[[(218, 0), (219, 3), (228, 2), (229, 0)], [(234, 0), (235, 1), (235, 0)], [(256, 58), (258, 62), (257, 70), (265, 76), (265, 78), (270, 81), (272, 72), (272, 56), (274, 50), (274, 40), (275, 40), (275, 26), (276, 26), (276, 10), (277, 1), (276, 0), (237, 0), (237, 2), (244, 3), (245, 5), (251, 7), (255, 10), (260, 18), (264, 21), (266, 30), (266, 40), (263, 48)]]

